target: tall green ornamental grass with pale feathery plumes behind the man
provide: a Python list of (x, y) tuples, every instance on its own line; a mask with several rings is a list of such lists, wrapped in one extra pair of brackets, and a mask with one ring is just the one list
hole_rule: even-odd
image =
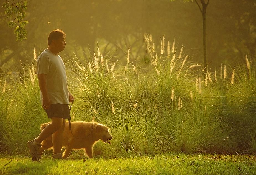
[[(131, 59), (129, 47), (125, 64), (99, 48), (88, 60), (74, 55), (65, 63), (75, 97), (71, 120), (105, 124), (114, 137), (111, 145), (97, 143), (95, 156), (255, 153), (255, 63), (245, 56), (235, 68), (222, 64), (207, 70), (192, 63), (175, 41), (163, 37), (157, 48), (145, 35), (145, 45), (143, 62)], [(0, 120), (7, 123), (0, 125), (1, 150), (25, 152), (25, 142), (49, 121), (33, 65), (25, 72), (0, 98), (5, 109)], [(1, 89), (3, 82), (1, 78)], [(8, 98), (9, 103), (2, 102)]]

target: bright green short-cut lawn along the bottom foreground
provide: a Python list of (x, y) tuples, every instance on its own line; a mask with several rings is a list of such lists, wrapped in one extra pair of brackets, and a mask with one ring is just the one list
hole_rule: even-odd
[(165, 153), (94, 159), (71, 156), (32, 162), (28, 155), (0, 154), (0, 174), (256, 174), (255, 155)]

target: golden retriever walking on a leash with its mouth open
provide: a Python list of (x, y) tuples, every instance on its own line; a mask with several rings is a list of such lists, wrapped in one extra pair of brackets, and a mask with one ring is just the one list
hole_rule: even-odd
[[(40, 127), (41, 132), (43, 128), (50, 123), (51, 122), (42, 124)], [(64, 159), (68, 157), (72, 149), (84, 149), (87, 156), (89, 158), (93, 158), (93, 146), (95, 143), (101, 139), (104, 143), (107, 142), (110, 144), (108, 140), (113, 138), (112, 135), (109, 134), (109, 129), (105, 125), (96, 122), (71, 122), (71, 130), (75, 137), (69, 130), (69, 124), (68, 121), (66, 121), (62, 143), (62, 146), (66, 147), (63, 156)], [(44, 150), (52, 148), (52, 135), (43, 140), (41, 145), (40, 154), (42, 154)]]

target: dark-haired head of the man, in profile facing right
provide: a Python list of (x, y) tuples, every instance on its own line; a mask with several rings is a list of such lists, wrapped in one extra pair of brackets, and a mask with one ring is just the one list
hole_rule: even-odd
[(64, 50), (66, 45), (65, 37), (66, 34), (61, 29), (53, 30), (48, 37), (48, 46), (57, 52)]

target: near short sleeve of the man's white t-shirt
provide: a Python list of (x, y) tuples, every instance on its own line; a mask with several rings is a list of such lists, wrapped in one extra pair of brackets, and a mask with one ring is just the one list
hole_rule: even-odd
[(37, 58), (37, 64), (35, 67), (35, 74), (48, 74), (49, 71), (50, 60), (47, 56), (41, 55)]

